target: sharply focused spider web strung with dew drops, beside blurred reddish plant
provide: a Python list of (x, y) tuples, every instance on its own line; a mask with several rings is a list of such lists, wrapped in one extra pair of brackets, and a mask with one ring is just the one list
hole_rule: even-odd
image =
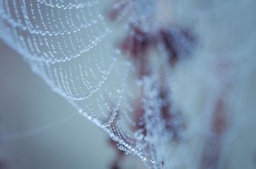
[(157, 166), (141, 130), (136, 131), (129, 103), (137, 97), (129, 80), (134, 68), (112, 46), (115, 34), (101, 6), (100, 1), (3, 0), (0, 38), (120, 150)]

